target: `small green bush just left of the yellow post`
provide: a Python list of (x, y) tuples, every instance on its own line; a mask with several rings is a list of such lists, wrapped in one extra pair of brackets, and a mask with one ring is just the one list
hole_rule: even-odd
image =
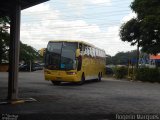
[(125, 78), (127, 75), (127, 68), (126, 67), (117, 67), (115, 68), (115, 77), (118, 79)]

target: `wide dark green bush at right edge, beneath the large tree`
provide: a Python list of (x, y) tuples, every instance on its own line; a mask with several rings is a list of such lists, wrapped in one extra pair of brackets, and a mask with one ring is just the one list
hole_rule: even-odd
[(160, 72), (157, 68), (139, 68), (136, 70), (136, 80), (160, 82)]

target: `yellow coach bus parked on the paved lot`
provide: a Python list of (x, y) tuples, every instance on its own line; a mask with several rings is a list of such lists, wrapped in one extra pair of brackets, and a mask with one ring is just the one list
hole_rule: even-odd
[(49, 41), (45, 51), (45, 80), (54, 85), (97, 79), (105, 73), (105, 51), (83, 41)]

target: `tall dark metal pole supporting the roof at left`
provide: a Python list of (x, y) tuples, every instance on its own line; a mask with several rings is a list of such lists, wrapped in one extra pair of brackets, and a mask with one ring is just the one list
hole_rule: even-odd
[(18, 99), (18, 67), (20, 46), (20, 16), (21, 5), (19, 0), (12, 3), (11, 30), (9, 50), (9, 78), (8, 78), (8, 100)]

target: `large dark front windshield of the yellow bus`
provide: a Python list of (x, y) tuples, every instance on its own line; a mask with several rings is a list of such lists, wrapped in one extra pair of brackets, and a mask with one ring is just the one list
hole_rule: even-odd
[(75, 70), (77, 46), (77, 43), (72, 42), (50, 42), (47, 46), (46, 67), (52, 70)]

